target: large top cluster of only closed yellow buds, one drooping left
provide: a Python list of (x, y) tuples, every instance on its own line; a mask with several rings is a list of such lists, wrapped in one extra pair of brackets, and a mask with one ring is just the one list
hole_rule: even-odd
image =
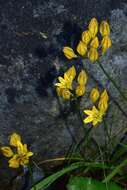
[[(102, 39), (99, 40), (98, 34)], [(107, 21), (102, 21), (100, 26), (96, 18), (92, 18), (88, 29), (82, 33), (77, 46), (77, 52), (82, 57), (87, 57), (91, 62), (96, 61), (111, 46), (110, 27)], [(77, 58), (74, 50), (68, 46), (63, 48), (63, 53), (68, 59)]]

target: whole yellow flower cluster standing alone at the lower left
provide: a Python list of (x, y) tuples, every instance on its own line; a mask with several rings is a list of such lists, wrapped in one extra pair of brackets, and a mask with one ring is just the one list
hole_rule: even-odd
[(13, 152), (11, 147), (1, 147), (1, 152), (4, 156), (10, 158), (8, 163), (11, 168), (18, 168), (29, 163), (29, 157), (33, 155), (32, 152), (28, 151), (27, 145), (22, 144), (21, 137), (17, 133), (13, 133), (10, 137), (10, 146), (16, 149), (16, 153)]

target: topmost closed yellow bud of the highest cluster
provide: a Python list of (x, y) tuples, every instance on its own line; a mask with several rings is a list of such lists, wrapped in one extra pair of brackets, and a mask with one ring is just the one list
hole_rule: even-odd
[(91, 33), (91, 37), (94, 38), (98, 32), (98, 22), (96, 18), (91, 19), (88, 28)]

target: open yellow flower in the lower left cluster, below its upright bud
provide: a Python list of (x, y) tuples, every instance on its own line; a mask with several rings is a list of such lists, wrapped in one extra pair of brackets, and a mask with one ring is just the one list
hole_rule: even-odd
[(9, 167), (18, 168), (20, 165), (25, 166), (29, 163), (29, 157), (33, 156), (33, 153), (28, 151), (27, 145), (17, 142), (17, 154), (15, 154), (8, 162)]

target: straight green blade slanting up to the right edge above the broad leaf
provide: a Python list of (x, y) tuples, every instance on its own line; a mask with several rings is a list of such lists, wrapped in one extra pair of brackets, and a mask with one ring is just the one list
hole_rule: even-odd
[(103, 183), (109, 182), (120, 170), (127, 165), (127, 159), (124, 160), (121, 164), (119, 164), (104, 180)]

